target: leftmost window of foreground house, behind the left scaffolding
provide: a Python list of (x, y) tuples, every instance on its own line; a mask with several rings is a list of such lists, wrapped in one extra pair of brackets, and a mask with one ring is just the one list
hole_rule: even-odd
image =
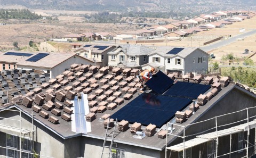
[(17, 136), (6, 134), (6, 156), (18, 158), (18, 151), (13, 149), (18, 149), (18, 138)]

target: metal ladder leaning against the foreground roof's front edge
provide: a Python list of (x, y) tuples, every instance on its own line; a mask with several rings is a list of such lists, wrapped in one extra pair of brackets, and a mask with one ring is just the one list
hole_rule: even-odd
[[(114, 135), (115, 135), (115, 130), (116, 130), (117, 119), (115, 121), (111, 121), (111, 122), (115, 123), (114, 127), (109, 127), (109, 124), (111, 123), (110, 118), (108, 118), (108, 121), (109, 122), (108, 122), (107, 130), (106, 130), (106, 134), (105, 134), (105, 139), (104, 139), (104, 143), (103, 143), (103, 146), (102, 146), (101, 158), (102, 158), (103, 154), (108, 154), (108, 158), (110, 157), (110, 153), (111, 153), (111, 149), (112, 149), (112, 145), (113, 145), (113, 140), (114, 140)], [(113, 130), (113, 132), (108, 133), (108, 131), (110, 129), (114, 129), (114, 130)], [(108, 136), (111, 136), (110, 146), (106, 146), (106, 141), (107, 141)], [(108, 152), (104, 152), (105, 148), (108, 148)]]

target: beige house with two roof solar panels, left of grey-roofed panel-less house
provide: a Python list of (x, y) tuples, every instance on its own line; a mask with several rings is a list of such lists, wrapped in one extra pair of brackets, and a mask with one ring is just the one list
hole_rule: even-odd
[(74, 51), (77, 55), (83, 56), (86, 59), (94, 61), (102, 66), (108, 65), (108, 52), (113, 51), (116, 46), (103, 44), (86, 44)]

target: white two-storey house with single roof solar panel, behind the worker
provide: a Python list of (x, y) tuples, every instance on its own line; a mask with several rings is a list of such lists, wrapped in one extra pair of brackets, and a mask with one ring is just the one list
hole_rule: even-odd
[[(148, 56), (149, 63), (164, 66), (166, 72), (197, 74), (208, 70), (209, 54), (197, 47), (158, 47)], [(143, 66), (145, 65), (142, 65), (142, 69)]]

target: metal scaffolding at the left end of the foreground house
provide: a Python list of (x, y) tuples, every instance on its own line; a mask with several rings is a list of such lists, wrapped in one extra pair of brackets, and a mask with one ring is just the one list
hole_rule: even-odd
[[(4, 118), (4, 117), (0, 117), (1, 120), (7, 120), (7, 122), (19, 122), (19, 127), (15, 127), (15, 126), (11, 126), (10, 124), (3, 124), (3, 123), (0, 123), (0, 129), (1, 130), (7, 130), (7, 131), (12, 131), (12, 132), (16, 132), (16, 133), (19, 133), (19, 149), (14, 149), (14, 148), (10, 148), (10, 147), (7, 147), (7, 146), (0, 146), (0, 148), (5, 148), (5, 149), (11, 149), (13, 151), (17, 151), (19, 152), (19, 157), (22, 157), (22, 153), (27, 153), (27, 154), (31, 154), (31, 155), (37, 155), (37, 156), (40, 156), (40, 157), (49, 157), (49, 156), (45, 156), (45, 155), (39, 155), (39, 154), (36, 154), (34, 152), (34, 114), (33, 114), (33, 110), (29, 109), (29, 110), (12, 110), (12, 109), (4, 109), (4, 108), (0, 108), (0, 112), (3, 112), (3, 111), (11, 111), (11, 112), (18, 112), (19, 113), (19, 119), (11, 119), (11, 118)], [(27, 113), (29, 115), (31, 115), (31, 128), (29, 129), (25, 129), (25, 128), (22, 128), (22, 116), (21, 114), (22, 113)], [(30, 134), (32, 135), (32, 139), (31, 139), (31, 136)], [(27, 152), (27, 151), (24, 151), (22, 149), (22, 138), (24, 139), (26, 135), (29, 135), (29, 139), (30, 139), (30, 142), (31, 142), (31, 152)], [(49, 157), (49, 158), (52, 158), (52, 157)]]

